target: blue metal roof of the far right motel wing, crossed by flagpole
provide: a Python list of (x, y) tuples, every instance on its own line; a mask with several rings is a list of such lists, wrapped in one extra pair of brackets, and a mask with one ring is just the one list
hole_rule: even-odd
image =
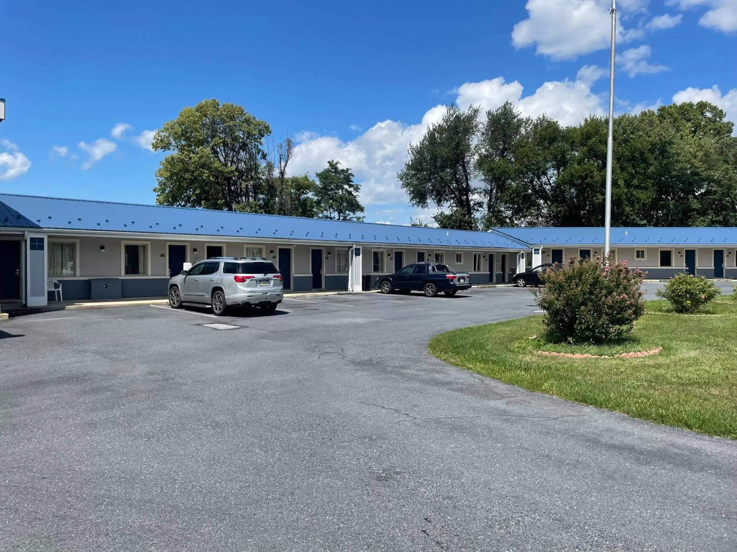
[[(511, 238), (530, 245), (603, 245), (604, 228), (495, 228)], [(650, 245), (734, 245), (737, 246), (737, 228), (612, 228), (612, 246)]]

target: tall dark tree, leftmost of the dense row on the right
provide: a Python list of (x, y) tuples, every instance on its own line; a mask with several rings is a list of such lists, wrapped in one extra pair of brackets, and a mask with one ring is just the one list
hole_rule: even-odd
[(408, 149), (409, 159), (397, 174), (410, 202), (421, 208), (430, 203), (450, 205), (434, 218), (441, 227), (476, 230), (481, 208), (475, 185), (476, 141), (480, 130), (479, 107), (461, 110), (450, 105), (436, 124), (430, 125), (419, 144)]

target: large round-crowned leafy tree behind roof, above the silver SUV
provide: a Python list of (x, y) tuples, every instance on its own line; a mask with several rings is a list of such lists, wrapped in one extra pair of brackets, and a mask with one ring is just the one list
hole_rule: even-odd
[(266, 121), (242, 107), (204, 100), (156, 132), (153, 149), (173, 152), (156, 171), (158, 205), (262, 212)]

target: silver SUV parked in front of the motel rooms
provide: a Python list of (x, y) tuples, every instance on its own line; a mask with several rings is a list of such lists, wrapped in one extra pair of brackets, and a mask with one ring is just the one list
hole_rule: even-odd
[(251, 257), (214, 257), (200, 261), (169, 280), (169, 304), (212, 305), (222, 316), (231, 306), (254, 306), (272, 313), (284, 297), (282, 275), (271, 261)]

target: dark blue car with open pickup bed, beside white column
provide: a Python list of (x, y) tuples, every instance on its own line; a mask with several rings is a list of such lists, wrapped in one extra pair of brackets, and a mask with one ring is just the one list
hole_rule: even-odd
[(471, 287), (471, 277), (441, 263), (412, 263), (396, 274), (380, 277), (376, 286), (382, 293), (424, 291), (427, 297), (435, 297), (442, 291), (452, 297), (458, 290)]

